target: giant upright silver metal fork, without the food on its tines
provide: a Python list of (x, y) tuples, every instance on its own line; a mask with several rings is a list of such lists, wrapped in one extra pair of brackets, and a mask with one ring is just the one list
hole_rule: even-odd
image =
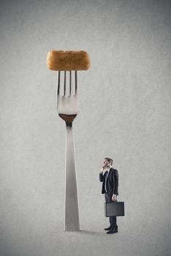
[[(69, 84), (68, 84), (69, 81)], [(79, 211), (77, 201), (77, 177), (75, 167), (75, 146), (72, 135), (72, 121), (79, 112), (77, 96), (77, 71), (75, 71), (75, 83), (72, 83), (72, 72), (69, 79), (64, 71), (64, 87), (61, 86), (61, 72), (58, 71), (57, 112), (58, 116), (66, 123), (66, 183), (65, 183), (65, 231), (80, 230)], [(73, 92), (73, 88), (74, 91)], [(64, 89), (62, 91), (62, 89)], [(67, 90), (68, 89), (68, 90)]]

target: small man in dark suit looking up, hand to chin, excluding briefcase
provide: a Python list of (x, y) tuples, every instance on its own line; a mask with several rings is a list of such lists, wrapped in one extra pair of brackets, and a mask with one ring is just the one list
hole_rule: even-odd
[[(105, 202), (117, 200), (118, 195), (118, 170), (113, 167), (113, 159), (105, 157), (102, 169), (99, 173), (99, 181), (102, 182), (102, 194), (104, 194)], [(110, 226), (104, 228), (107, 234), (118, 232), (116, 217), (110, 217)]]

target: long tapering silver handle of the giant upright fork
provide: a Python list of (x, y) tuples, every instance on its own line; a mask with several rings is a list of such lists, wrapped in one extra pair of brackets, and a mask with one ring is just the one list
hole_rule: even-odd
[(72, 122), (66, 122), (65, 231), (80, 230)]

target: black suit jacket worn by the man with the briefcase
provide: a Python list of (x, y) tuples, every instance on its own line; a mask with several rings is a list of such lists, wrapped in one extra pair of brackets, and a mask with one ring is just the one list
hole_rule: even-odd
[[(99, 181), (102, 182), (102, 194), (104, 194), (105, 191), (105, 176), (107, 175), (107, 172), (99, 173)], [(107, 194), (108, 195), (118, 195), (118, 170), (113, 169), (113, 167), (110, 168), (107, 178)]]

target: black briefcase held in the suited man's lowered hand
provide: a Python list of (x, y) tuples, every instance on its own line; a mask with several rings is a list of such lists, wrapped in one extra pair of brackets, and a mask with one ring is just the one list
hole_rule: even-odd
[(124, 202), (104, 202), (104, 216), (124, 216)]

